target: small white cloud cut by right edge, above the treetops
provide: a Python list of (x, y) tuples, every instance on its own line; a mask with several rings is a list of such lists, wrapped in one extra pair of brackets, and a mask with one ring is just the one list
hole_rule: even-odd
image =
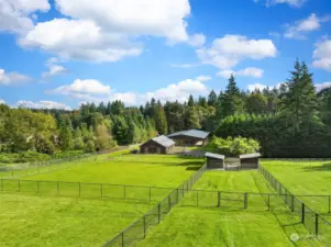
[(331, 40), (317, 43), (312, 57), (313, 67), (331, 71)]

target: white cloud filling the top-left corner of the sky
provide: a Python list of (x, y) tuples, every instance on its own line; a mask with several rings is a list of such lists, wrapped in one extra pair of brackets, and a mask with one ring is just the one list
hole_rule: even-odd
[(0, 32), (26, 33), (33, 29), (30, 14), (49, 9), (47, 0), (0, 0)]

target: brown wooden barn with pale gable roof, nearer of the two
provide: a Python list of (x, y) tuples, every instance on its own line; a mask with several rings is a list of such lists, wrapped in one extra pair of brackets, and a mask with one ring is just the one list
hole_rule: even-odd
[(175, 146), (175, 142), (164, 135), (154, 137), (140, 147), (141, 154), (169, 154)]

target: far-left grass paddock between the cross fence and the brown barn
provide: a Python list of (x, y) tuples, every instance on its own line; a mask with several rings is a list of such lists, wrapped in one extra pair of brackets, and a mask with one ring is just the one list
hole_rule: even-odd
[(25, 179), (174, 188), (199, 169), (203, 162), (203, 159), (170, 155), (125, 155), (115, 160), (112, 157), (88, 160), (80, 166), (30, 176)]

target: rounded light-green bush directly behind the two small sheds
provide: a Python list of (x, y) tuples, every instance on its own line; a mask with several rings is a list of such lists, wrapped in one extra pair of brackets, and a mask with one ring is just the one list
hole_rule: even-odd
[(206, 150), (214, 151), (225, 156), (239, 156), (243, 154), (256, 153), (260, 149), (257, 141), (243, 137), (213, 137), (206, 146)]

